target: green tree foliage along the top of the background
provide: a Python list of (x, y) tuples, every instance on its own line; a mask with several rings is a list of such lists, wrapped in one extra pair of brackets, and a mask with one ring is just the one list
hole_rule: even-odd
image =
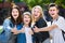
[[(0, 2), (1, 1), (3, 0), (0, 0)], [(6, 0), (6, 1), (25, 2), (30, 9), (35, 5), (41, 5), (43, 8), (46, 4), (54, 2), (57, 5), (61, 5), (65, 9), (65, 0)]]

